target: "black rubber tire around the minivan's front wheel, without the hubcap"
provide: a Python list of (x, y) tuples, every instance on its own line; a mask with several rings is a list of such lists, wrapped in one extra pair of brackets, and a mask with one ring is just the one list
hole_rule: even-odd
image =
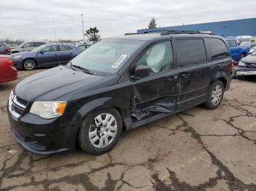
[[(94, 121), (94, 118), (97, 117), (97, 115), (102, 113), (112, 114), (113, 117), (116, 118), (117, 132), (116, 132), (116, 137), (114, 138), (112, 143), (108, 145), (108, 147), (97, 148), (97, 147), (94, 147), (89, 140), (89, 127), (91, 123)], [(86, 117), (86, 120), (83, 121), (82, 127), (79, 130), (80, 148), (83, 151), (89, 152), (93, 155), (100, 155), (105, 152), (108, 152), (116, 145), (119, 137), (121, 136), (121, 131), (122, 131), (122, 120), (121, 120), (120, 114), (116, 111), (116, 109), (113, 109), (113, 108), (99, 109), (96, 112), (89, 114), (89, 116)]]

